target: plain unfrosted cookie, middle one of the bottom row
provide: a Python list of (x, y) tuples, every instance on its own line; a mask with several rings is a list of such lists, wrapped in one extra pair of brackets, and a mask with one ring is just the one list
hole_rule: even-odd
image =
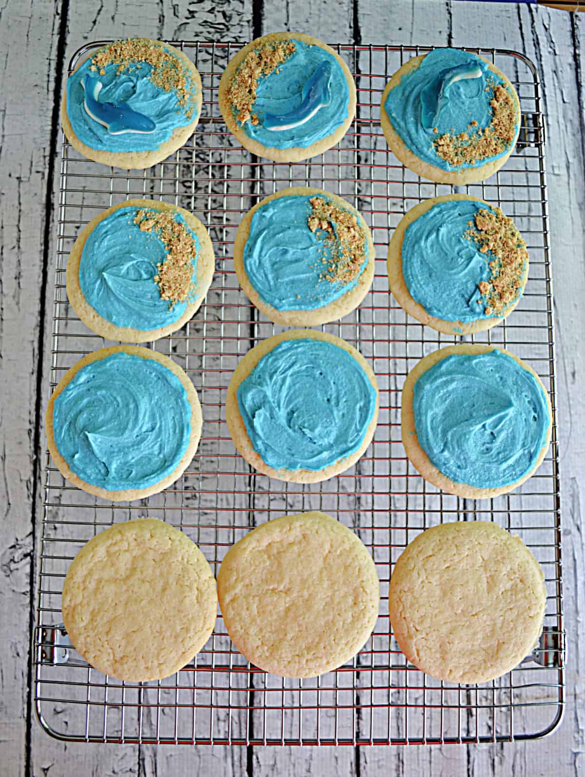
[(218, 597), (245, 658), (283, 677), (309, 678), (364, 646), (380, 584), (360, 538), (310, 512), (275, 518), (236, 542), (218, 572)]

